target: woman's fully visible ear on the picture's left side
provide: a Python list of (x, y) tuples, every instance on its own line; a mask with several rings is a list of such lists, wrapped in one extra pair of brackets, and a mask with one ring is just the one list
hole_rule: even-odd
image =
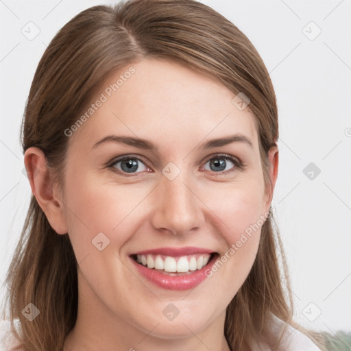
[(25, 151), (24, 161), (32, 193), (40, 208), (53, 230), (58, 234), (66, 234), (64, 204), (56, 191), (56, 184), (53, 184), (51, 179), (45, 154), (38, 147), (29, 147)]

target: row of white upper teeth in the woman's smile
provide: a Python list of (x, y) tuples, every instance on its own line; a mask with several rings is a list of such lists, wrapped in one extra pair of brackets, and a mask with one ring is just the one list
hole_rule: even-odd
[(185, 273), (195, 271), (206, 266), (210, 254), (196, 254), (190, 256), (172, 257), (161, 255), (136, 255), (136, 262), (142, 263), (147, 268), (165, 269), (169, 272)]

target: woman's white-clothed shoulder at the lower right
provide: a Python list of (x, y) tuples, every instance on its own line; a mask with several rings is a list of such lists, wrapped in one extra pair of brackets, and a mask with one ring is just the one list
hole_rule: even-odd
[[(271, 332), (279, 338), (285, 328), (285, 322), (274, 315), (271, 317)], [(283, 351), (321, 351), (307, 335), (293, 326), (287, 326), (284, 331), (280, 339), (280, 348)]]

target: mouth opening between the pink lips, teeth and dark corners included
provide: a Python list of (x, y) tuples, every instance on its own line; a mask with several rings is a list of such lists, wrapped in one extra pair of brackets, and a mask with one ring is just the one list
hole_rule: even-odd
[(217, 252), (197, 253), (183, 256), (167, 256), (164, 254), (132, 254), (130, 257), (147, 269), (158, 271), (167, 276), (184, 276), (204, 269), (215, 261)]

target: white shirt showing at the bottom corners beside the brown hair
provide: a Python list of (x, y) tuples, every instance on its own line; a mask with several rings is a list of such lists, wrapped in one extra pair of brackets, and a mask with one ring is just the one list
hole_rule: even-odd
[[(285, 323), (277, 317), (274, 318), (274, 325), (272, 326), (272, 332), (277, 337), (280, 335), (282, 328)], [(16, 346), (18, 341), (14, 338), (14, 335), (10, 332), (10, 322), (7, 320), (0, 319), (0, 351), (11, 351)], [(282, 337), (280, 343), (281, 351), (321, 351), (315, 343), (311, 341), (306, 335), (299, 330), (289, 326), (285, 332), (285, 336)], [(260, 343), (259, 345), (253, 346), (253, 351), (271, 351), (269, 347)]]

